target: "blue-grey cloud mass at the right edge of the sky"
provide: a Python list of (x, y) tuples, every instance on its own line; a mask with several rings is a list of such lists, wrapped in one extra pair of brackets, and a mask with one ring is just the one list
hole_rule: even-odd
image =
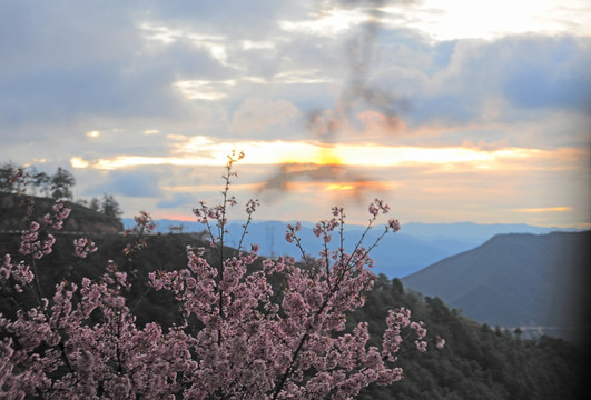
[[(529, 34), (425, 47), (414, 38), (397, 46), (372, 79), (410, 99), (411, 127), (515, 122), (531, 109), (590, 106), (590, 39)], [(491, 114), (491, 100), (506, 104)]]

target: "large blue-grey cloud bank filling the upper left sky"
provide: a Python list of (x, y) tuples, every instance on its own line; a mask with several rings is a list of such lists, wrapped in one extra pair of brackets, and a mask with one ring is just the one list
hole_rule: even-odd
[(77, 118), (180, 118), (177, 79), (223, 79), (207, 49), (179, 40), (148, 51), (137, 9), (61, 2), (2, 6), (0, 122), (71, 123)]

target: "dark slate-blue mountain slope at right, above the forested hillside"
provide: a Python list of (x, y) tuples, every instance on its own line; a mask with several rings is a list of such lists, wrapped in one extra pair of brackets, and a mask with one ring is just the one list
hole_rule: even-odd
[(571, 338), (589, 333), (590, 244), (591, 231), (499, 234), (402, 281), (480, 322)]

